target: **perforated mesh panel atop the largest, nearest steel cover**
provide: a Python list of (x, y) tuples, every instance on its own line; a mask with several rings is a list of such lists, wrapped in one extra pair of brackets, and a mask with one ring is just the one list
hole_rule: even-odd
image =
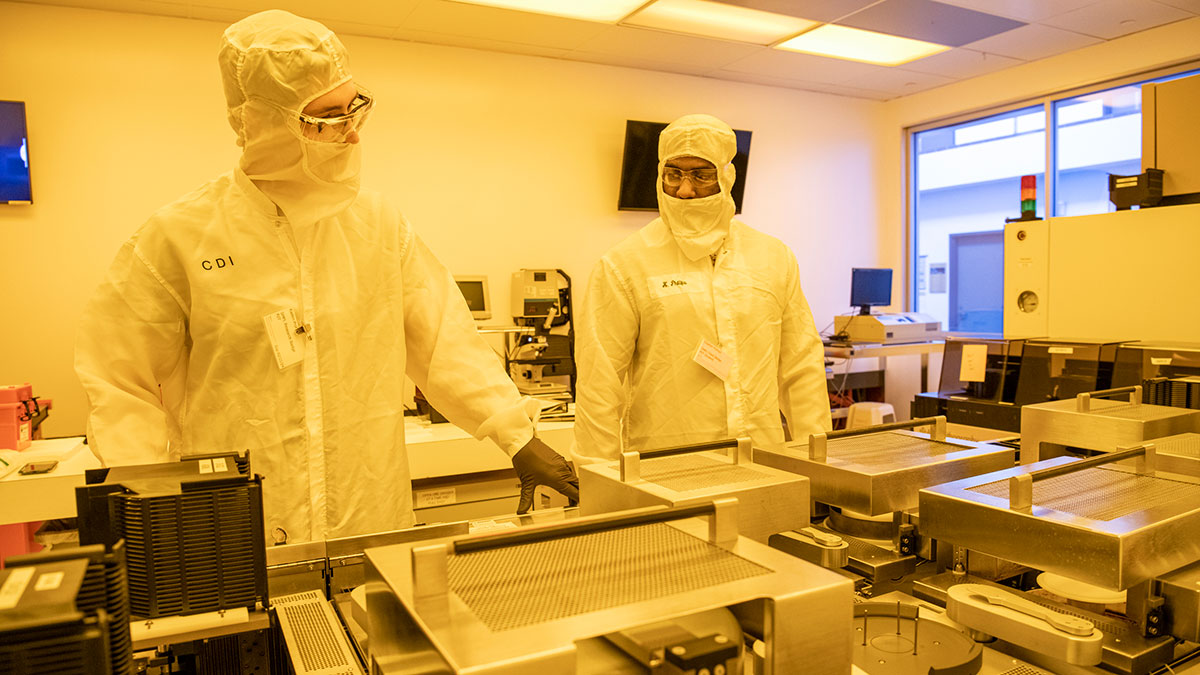
[(450, 556), (450, 590), (508, 631), (772, 571), (666, 524)]

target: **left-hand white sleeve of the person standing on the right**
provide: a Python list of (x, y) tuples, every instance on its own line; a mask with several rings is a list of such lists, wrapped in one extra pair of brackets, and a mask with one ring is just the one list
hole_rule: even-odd
[(629, 407), (628, 376), (637, 345), (632, 294), (607, 259), (596, 263), (576, 333), (576, 462), (616, 459)]

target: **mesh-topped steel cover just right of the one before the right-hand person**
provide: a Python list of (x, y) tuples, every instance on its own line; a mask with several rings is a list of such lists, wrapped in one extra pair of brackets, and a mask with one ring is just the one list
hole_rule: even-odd
[(968, 476), (1008, 468), (1012, 448), (926, 434), (882, 431), (829, 441), (826, 461), (809, 459), (806, 444), (755, 448), (755, 461), (808, 476), (812, 498), (882, 515), (916, 508), (917, 492)]

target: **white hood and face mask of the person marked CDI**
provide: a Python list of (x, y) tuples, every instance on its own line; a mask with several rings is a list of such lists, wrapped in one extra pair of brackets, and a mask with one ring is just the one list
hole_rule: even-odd
[(359, 193), (361, 148), (305, 138), (295, 117), (350, 82), (347, 59), (328, 28), (280, 10), (224, 32), (218, 60), (240, 167), (296, 227), (346, 210)]

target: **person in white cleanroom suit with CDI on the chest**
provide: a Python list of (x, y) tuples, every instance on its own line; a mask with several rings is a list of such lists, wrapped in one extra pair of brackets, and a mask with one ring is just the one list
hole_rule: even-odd
[(162, 208), (85, 310), (76, 370), (109, 466), (251, 450), (269, 536), (413, 524), (404, 376), (534, 486), (578, 497), (475, 330), (452, 276), (359, 186), (374, 101), (324, 25), (283, 11), (229, 26), (218, 61), (238, 168)]

